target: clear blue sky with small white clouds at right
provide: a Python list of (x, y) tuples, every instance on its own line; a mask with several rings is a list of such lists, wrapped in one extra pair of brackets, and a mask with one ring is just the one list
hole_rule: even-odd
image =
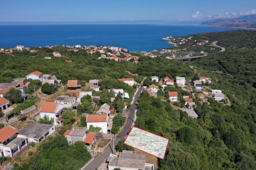
[(1, 6), (0, 22), (196, 23), (256, 14), (256, 0), (4, 0)]

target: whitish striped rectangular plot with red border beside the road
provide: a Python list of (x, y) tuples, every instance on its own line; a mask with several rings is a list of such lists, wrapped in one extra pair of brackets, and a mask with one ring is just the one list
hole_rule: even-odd
[(124, 144), (157, 158), (164, 159), (168, 141), (169, 139), (167, 138), (133, 126), (124, 140)]

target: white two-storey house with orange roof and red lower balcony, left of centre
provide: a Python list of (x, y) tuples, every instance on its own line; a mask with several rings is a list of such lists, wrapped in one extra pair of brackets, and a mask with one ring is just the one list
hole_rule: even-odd
[(59, 125), (62, 122), (62, 116), (61, 113), (64, 110), (64, 105), (57, 103), (57, 102), (44, 102), (41, 106), (39, 112), (41, 118), (44, 117), (44, 115), (49, 116), (49, 118), (54, 119), (54, 125)]

